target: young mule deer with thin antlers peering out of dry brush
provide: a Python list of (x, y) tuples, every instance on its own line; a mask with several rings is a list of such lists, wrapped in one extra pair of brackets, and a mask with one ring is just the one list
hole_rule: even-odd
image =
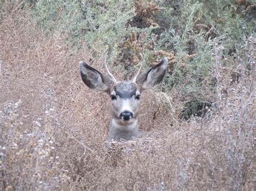
[(168, 65), (164, 58), (156, 66), (139, 75), (142, 65), (133, 81), (117, 81), (106, 68), (109, 77), (100, 73), (84, 61), (79, 62), (80, 73), (87, 87), (96, 91), (105, 91), (111, 97), (111, 121), (107, 141), (132, 140), (142, 132), (138, 130), (139, 100), (142, 91), (156, 88), (166, 73)]

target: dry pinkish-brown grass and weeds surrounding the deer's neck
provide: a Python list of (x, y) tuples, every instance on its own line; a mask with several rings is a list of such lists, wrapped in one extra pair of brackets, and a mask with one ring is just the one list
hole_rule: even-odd
[[(110, 99), (79, 76), (78, 61), (90, 53), (83, 45), (74, 51), (60, 35), (45, 38), (28, 11), (2, 15), (2, 189), (255, 188), (255, 37), (235, 60), (238, 69), (221, 72), (221, 47), (215, 47), (217, 102), (204, 118), (180, 121), (178, 93), (149, 91), (139, 119), (147, 133), (106, 149)], [(103, 68), (100, 60), (91, 65)], [(234, 70), (239, 82), (231, 83)], [(113, 73), (122, 79), (122, 71)]]

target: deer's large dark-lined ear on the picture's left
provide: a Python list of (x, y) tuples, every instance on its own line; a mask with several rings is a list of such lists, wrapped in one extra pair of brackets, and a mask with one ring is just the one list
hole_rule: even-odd
[(113, 81), (100, 73), (97, 69), (87, 65), (84, 61), (79, 62), (80, 73), (83, 82), (89, 88), (96, 91), (109, 91)]

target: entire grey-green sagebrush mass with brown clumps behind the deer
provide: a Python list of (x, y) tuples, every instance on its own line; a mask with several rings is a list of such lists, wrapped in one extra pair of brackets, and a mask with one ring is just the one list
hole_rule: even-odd
[(225, 57), (238, 54), (242, 39), (248, 38), (253, 30), (253, 19), (246, 21), (250, 13), (245, 12), (251, 4), (37, 1), (32, 15), (42, 29), (63, 33), (69, 44), (84, 41), (93, 57), (108, 52), (108, 60), (128, 69), (128, 74), (138, 68), (134, 65), (141, 61), (139, 53), (144, 55), (147, 65), (152, 65), (174, 52), (175, 58), (169, 58), (171, 69), (165, 79), (169, 87), (166, 91), (181, 91), (184, 110), (180, 116), (189, 118), (192, 114), (201, 115), (199, 110), (214, 102), (213, 39), (223, 45)]

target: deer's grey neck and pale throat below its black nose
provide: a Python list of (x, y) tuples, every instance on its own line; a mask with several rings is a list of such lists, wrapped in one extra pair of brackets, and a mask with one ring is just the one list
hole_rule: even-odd
[(122, 124), (111, 115), (110, 130), (108, 141), (110, 140), (133, 140), (139, 135), (138, 131), (138, 117), (133, 119), (132, 123)]

